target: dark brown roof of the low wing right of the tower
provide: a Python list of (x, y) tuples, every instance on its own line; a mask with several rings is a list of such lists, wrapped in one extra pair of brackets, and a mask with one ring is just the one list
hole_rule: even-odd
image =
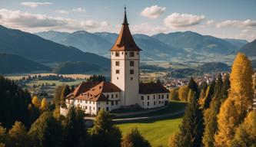
[(140, 83), (140, 94), (170, 93), (161, 83)]

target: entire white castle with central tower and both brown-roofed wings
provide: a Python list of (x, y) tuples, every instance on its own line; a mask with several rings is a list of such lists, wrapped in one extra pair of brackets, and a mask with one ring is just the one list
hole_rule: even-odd
[(66, 106), (79, 106), (85, 113), (96, 115), (100, 109), (111, 111), (135, 105), (151, 109), (168, 105), (169, 90), (161, 83), (139, 83), (141, 51), (132, 38), (125, 8), (121, 31), (111, 48), (111, 82), (81, 83), (68, 94)]

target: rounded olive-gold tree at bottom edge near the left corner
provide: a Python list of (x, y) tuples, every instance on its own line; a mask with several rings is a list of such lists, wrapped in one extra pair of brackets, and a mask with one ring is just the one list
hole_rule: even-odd
[(25, 126), (16, 121), (8, 131), (8, 144), (10, 146), (28, 146), (28, 135)]

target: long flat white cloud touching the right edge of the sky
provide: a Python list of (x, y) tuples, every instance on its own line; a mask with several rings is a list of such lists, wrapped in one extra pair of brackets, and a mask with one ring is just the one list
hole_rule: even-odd
[(218, 24), (216, 24), (217, 28), (222, 27), (256, 27), (256, 21), (252, 21), (251, 19), (245, 20), (245, 21), (221, 21)]

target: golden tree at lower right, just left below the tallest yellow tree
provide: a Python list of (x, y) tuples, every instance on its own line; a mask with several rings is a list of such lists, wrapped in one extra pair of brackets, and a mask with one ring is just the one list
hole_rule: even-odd
[(218, 132), (214, 136), (214, 145), (227, 146), (234, 137), (235, 128), (239, 124), (238, 109), (234, 106), (234, 100), (231, 95), (221, 105), (218, 114)]

